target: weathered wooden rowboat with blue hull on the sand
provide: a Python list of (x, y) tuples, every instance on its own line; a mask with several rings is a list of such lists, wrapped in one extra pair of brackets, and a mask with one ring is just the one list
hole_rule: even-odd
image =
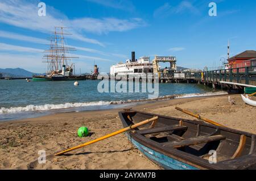
[(127, 132), (129, 140), (164, 169), (255, 169), (255, 134), (196, 120), (125, 110), (123, 127), (158, 116), (158, 121)]

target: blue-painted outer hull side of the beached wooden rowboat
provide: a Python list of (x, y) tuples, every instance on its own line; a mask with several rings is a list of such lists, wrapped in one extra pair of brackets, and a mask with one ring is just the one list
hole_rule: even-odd
[(188, 165), (186, 163), (177, 161), (174, 158), (167, 157), (164, 154), (161, 154), (155, 150), (152, 150), (139, 142), (135, 141), (133, 138), (131, 138), (128, 134), (127, 137), (129, 140), (135, 145), (148, 159), (150, 159), (152, 162), (156, 163), (156, 165), (159, 165), (160, 167), (163, 167), (164, 169), (169, 170), (199, 170), (196, 167), (193, 167), (191, 165)]

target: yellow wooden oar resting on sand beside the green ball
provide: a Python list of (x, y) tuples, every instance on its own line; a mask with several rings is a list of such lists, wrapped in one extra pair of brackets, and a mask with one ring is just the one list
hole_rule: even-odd
[(151, 121), (155, 121), (155, 120), (157, 120), (157, 119), (158, 119), (158, 117), (153, 117), (153, 118), (151, 118), (151, 119), (144, 120), (144, 121), (142, 121), (141, 123), (137, 123), (137, 124), (131, 125), (130, 127), (120, 129), (119, 131), (116, 131), (116, 132), (107, 134), (107, 135), (105, 135), (105, 136), (102, 136), (102, 137), (100, 137), (100, 138), (97, 138), (96, 140), (92, 140), (92, 141), (86, 142), (86, 143), (84, 143), (84, 144), (82, 144), (82, 145), (75, 146), (75, 147), (73, 147), (73, 148), (70, 148), (70, 149), (61, 151), (60, 153), (56, 153), (55, 155), (62, 155), (62, 154), (67, 153), (67, 152), (69, 152), (69, 151), (76, 150), (76, 149), (82, 148), (82, 147), (84, 147), (84, 146), (94, 144), (95, 142), (98, 142), (98, 141), (101, 141), (101, 140), (105, 140), (106, 138), (109, 138), (109, 137), (115, 136), (115, 135), (117, 135), (117, 134), (120, 134), (120, 133), (129, 131), (130, 129), (134, 129), (134, 128), (140, 127), (141, 125), (150, 123)]

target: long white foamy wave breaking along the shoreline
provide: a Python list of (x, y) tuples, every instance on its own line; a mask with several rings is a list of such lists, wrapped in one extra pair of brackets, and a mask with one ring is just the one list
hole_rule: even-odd
[(207, 92), (204, 94), (176, 94), (176, 95), (165, 95), (159, 96), (154, 99), (139, 99), (139, 100), (117, 100), (117, 101), (98, 101), (98, 102), (87, 102), (87, 103), (65, 103), (65, 104), (45, 104), (45, 105), (28, 105), (25, 107), (10, 107), (0, 108), (1, 113), (19, 113), (26, 111), (49, 111), (49, 110), (60, 110), (60, 109), (68, 109), (68, 108), (76, 108), (76, 107), (89, 107), (89, 106), (108, 106), (113, 104), (127, 104), (127, 103), (139, 103), (139, 102), (147, 102), (152, 100), (167, 100), (167, 99), (178, 99), (178, 98), (192, 98), (199, 96), (214, 96), (214, 95), (227, 95), (228, 92), (220, 91), (220, 92)]

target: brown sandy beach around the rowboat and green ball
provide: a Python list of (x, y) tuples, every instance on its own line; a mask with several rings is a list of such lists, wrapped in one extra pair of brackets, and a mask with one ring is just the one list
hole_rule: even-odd
[[(228, 101), (228, 96), (236, 104)], [(256, 111), (242, 102), (241, 95), (159, 100), (133, 107), (134, 110), (195, 119), (175, 106), (199, 113), (229, 128), (256, 133)], [(0, 169), (160, 169), (148, 161), (125, 134), (56, 157), (63, 150), (122, 128), (116, 110), (56, 113), (34, 119), (0, 123)], [(77, 137), (79, 127), (90, 136)], [(46, 164), (38, 163), (38, 151), (45, 150)]]

